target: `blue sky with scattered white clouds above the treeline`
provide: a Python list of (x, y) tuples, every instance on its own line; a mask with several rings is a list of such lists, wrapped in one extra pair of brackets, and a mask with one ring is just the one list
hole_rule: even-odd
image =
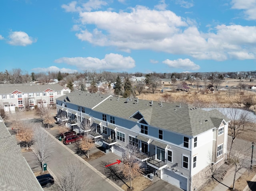
[(0, 71), (256, 70), (256, 0), (1, 0)]

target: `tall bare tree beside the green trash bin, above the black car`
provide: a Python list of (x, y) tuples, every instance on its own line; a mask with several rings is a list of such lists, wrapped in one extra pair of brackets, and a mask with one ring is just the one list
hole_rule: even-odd
[(44, 172), (43, 165), (45, 162), (47, 162), (52, 152), (54, 151), (53, 140), (48, 135), (46, 130), (38, 125), (34, 127), (34, 141), (34, 152), (40, 165), (42, 166), (42, 172)]

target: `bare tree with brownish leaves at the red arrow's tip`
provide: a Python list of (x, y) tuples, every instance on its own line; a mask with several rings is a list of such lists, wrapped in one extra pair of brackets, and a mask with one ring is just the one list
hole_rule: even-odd
[(130, 180), (130, 189), (132, 189), (132, 179), (142, 173), (142, 166), (135, 158), (137, 150), (136, 146), (128, 144), (122, 153), (122, 164), (118, 166), (124, 177)]

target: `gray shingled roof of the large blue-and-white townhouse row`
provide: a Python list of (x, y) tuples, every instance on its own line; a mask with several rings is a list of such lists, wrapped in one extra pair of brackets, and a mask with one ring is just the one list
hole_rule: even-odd
[[(218, 127), (220, 124), (217, 123), (222, 119), (229, 121), (218, 110), (205, 111), (189, 104), (163, 102), (161, 106), (160, 102), (155, 101), (152, 104), (149, 100), (138, 100), (138, 102), (137, 99), (127, 101), (126, 98), (119, 98), (117, 100), (116, 97), (107, 98), (106, 95), (91, 93), (70, 93), (67, 96), (72, 104), (89, 108), (98, 104), (93, 110), (126, 120), (138, 121), (129, 117), (139, 111), (150, 126), (187, 136), (196, 136)], [(99, 104), (100, 102), (102, 103)], [(214, 118), (218, 118), (219, 121)]]

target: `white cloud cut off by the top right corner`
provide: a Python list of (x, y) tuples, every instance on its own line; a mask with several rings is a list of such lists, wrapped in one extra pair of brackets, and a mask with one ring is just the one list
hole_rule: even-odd
[(233, 9), (244, 10), (247, 20), (256, 20), (256, 1), (255, 0), (232, 0)]

